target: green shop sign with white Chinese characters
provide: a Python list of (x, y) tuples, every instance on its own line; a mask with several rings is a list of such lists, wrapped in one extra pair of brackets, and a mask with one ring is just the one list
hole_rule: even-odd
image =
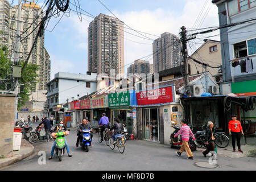
[(130, 93), (128, 90), (109, 94), (109, 107), (130, 106)]

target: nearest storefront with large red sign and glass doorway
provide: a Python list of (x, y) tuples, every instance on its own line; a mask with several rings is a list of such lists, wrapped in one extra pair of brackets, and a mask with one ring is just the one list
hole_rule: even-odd
[[(142, 139), (168, 144), (171, 133), (172, 107), (175, 103), (174, 85), (159, 86), (137, 92), (138, 136)], [(179, 109), (183, 113), (182, 109)], [(183, 114), (180, 114), (181, 118)], [(141, 131), (141, 134), (139, 133)]]

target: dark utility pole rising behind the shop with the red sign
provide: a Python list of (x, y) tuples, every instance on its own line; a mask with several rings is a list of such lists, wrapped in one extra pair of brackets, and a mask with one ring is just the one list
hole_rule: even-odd
[(187, 62), (187, 56), (188, 56), (188, 49), (187, 49), (187, 31), (184, 26), (181, 27), (181, 42), (182, 42), (182, 49), (181, 53), (183, 55), (183, 65), (184, 65), (184, 80), (185, 80), (185, 90), (184, 94), (189, 97), (189, 86), (188, 86), (188, 62)]

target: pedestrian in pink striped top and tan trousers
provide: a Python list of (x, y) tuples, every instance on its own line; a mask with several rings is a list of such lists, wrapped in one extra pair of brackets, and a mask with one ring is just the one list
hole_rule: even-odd
[(182, 154), (182, 152), (186, 151), (187, 156), (188, 156), (187, 159), (193, 160), (194, 158), (193, 158), (193, 154), (189, 148), (188, 140), (189, 140), (189, 137), (191, 137), (191, 136), (192, 136), (193, 140), (196, 140), (196, 138), (194, 137), (189, 126), (186, 124), (185, 119), (182, 119), (180, 123), (181, 123), (182, 127), (174, 135), (174, 138), (176, 138), (177, 136), (179, 136), (179, 134), (181, 134), (181, 139), (182, 139), (182, 144), (181, 144), (180, 150), (177, 151), (177, 155), (180, 156)]

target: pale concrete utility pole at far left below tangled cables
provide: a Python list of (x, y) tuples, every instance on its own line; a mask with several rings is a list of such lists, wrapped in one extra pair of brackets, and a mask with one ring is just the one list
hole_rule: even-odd
[[(15, 38), (15, 44), (14, 44), (14, 60), (13, 60), (14, 65), (20, 65), (19, 50), (20, 50), (21, 10), (22, 10), (22, 0), (19, 0), (17, 30), (16, 30), (16, 34), (15, 34), (16, 38)], [(16, 95), (15, 106), (14, 106), (14, 119), (16, 121), (16, 113), (18, 110), (19, 78), (14, 78), (14, 86), (15, 86), (14, 92)]]

